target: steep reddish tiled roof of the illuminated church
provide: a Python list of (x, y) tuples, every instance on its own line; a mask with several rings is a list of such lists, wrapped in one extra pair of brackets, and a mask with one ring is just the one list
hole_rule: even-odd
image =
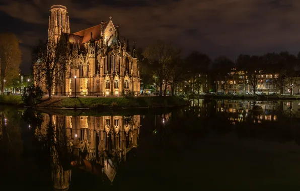
[[(109, 22), (103, 23), (104, 28), (107, 27), (108, 23)], [(79, 32), (76, 32), (76, 33), (73, 33), (73, 34), (82, 36), (83, 37), (82, 43), (86, 43), (86, 42), (91, 40), (91, 33), (93, 34), (93, 40), (100, 39), (101, 24), (96, 25), (96, 26), (91, 27), (91, 28), (88, 28), (88, 29), (85, 29), (85, 30), (82, 30), (82, 31), (79, 31)]]

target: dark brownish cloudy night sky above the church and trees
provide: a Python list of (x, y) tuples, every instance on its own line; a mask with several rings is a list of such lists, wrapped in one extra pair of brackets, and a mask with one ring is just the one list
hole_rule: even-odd
[(0, 32), (21, 40), (22, 72), (29, 72), (31, 47), (48, 35), (52, 5), (66, 6), (71, 33), (108, 21), (121, 37), (145, 47), (169, 41), (187, 55), (226, 55), (300, 51), (299, 0), (1, 0)]

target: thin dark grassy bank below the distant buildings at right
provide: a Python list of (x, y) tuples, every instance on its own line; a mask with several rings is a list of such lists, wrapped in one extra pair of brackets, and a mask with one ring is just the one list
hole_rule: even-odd
[(299, 96), (268, 96), (268, 95), (236, 95), (236, 96), (229, 96), (229, 95), (199, 95), (191, 97), (190, 99), (218, 99), (218, 100), (257, 100), (257, 101), (280, 101), (280, 100), (299, 100)]

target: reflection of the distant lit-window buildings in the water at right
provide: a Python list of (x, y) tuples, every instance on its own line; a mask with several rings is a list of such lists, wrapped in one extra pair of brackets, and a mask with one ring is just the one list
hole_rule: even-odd
[(246, 121), (277, 121), (278, 117), (300, 118), (300, 102), (297, 101), (192, 100), (190, 110), (194, 110), (194, 115), (198, 117), (226, 116), (233, 125)]

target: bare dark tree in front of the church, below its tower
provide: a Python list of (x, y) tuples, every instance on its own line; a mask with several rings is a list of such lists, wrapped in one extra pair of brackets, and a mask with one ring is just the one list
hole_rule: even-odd
[(71, 59), (69, 48), (66, 46), (63, 35), (56, 43), (54, 41), (39, 41), (32, 52), (34, 81), (44, 82), (49, 93), (52, 88), (62, 83), (64, 71)]

